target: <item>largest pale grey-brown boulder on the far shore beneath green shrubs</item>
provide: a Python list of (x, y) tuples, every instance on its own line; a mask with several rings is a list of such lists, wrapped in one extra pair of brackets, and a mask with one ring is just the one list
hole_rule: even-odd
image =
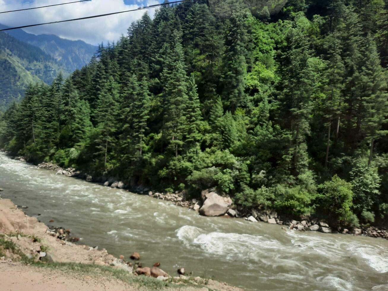
[(232, 199), (229, 196), (223, 197), (212, 189), (202, 191), (201, 198), (203, 205), (199, 209), (199, 214), (204, 216), (224, 215), (232, 205)]

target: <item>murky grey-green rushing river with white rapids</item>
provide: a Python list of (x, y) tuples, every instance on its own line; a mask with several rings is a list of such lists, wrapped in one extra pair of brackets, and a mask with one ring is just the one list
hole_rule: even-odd
[[(202, 217), (167, 201), (55, 175), (0, 153), (3, 198), (113, 255), (133, 251), (246, 290), (388, 290), (388, 241)], [(54, 222), (50, 223), (49, 220)], [(386, 284), (386, 285), (385, 285)], [(376, 287), (374, 287), (376, 286)]]

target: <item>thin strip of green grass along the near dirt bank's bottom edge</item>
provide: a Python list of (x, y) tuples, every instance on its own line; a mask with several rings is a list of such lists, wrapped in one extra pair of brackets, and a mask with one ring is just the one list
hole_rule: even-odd
[[(174, 289), (182, 288), (185, 286), (191, 286), (196, 288), (202, 288), (203, 285), (194, 284), (191, 280), (174, 280), (158, 281), (155, 278), (147, 276), (133, 276), (125, 270), (120, 270), (108, 266), (88, 265), (80, 263), (35, 263), (34, 266), (40, 268), (50, 268), (51, 270), (59, 270), (64, 273), (79, 275), (85, 277), (90, 275), (91, 277), (107, 279), (118, 279), (129, 285), (138, 286), (139, 290), (163, 290), (165, 288)], [(179, 284), (177, 284), (179, 283)]]

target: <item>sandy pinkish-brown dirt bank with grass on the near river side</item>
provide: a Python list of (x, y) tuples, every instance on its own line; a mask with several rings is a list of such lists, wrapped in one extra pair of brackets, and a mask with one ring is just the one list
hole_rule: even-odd
[(0, 290), (241, 290), (199, 277), (137, 276), (106, 250), (57, 236), (12, 201), (0, 198)]

